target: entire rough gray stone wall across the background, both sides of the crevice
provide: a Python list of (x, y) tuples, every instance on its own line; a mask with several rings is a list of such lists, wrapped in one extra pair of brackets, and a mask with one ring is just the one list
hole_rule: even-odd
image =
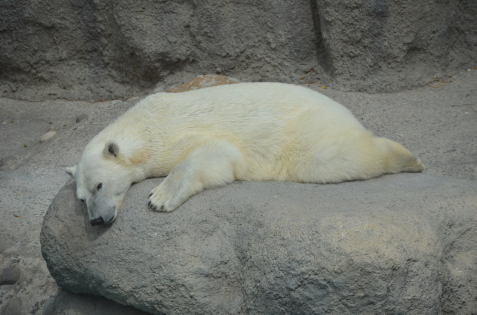
[(393, 91), (477, 66), (474, 0), (0, 0), (0, 12), (0, 95), (13, 98), (127, 98), (204, 73)]

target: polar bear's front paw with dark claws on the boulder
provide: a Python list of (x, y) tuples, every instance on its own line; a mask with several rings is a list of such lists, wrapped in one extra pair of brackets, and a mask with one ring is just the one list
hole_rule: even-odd
[[(152, 190), (147, 205), (154, 211), (170, 212), (182, 205), (190, 196), (183, 189), (170, 185), (170, 181), (164, 180)], [(178, 189), (177, 189), (178, 188)]]

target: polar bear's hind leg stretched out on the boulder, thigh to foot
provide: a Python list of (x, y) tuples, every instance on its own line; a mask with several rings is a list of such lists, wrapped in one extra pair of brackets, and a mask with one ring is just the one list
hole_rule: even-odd
[(365, 130), (355, 136), (325, 138), (316, 143), (313, 152), (297, 159), (288, 180), (336, 184), (424, 169), (421, 161), (399, 143), (375, 138)]

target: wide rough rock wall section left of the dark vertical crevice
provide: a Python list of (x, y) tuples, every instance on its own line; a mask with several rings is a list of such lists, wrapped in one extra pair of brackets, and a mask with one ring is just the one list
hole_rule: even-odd
[(308, 0), (6, 0), (0, 11), (0, 92), (19, 98), (126, 98), (218, 68), (290, 80), (316, 59)]

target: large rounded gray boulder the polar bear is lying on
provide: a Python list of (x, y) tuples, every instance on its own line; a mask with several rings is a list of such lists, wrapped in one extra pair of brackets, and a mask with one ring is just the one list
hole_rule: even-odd
[(152, 314), (475, 314), (474, 181), (235, 182), (151, 212), (161, 180), (94, 227), (67, 182), (41, 229), (60, 286)]

